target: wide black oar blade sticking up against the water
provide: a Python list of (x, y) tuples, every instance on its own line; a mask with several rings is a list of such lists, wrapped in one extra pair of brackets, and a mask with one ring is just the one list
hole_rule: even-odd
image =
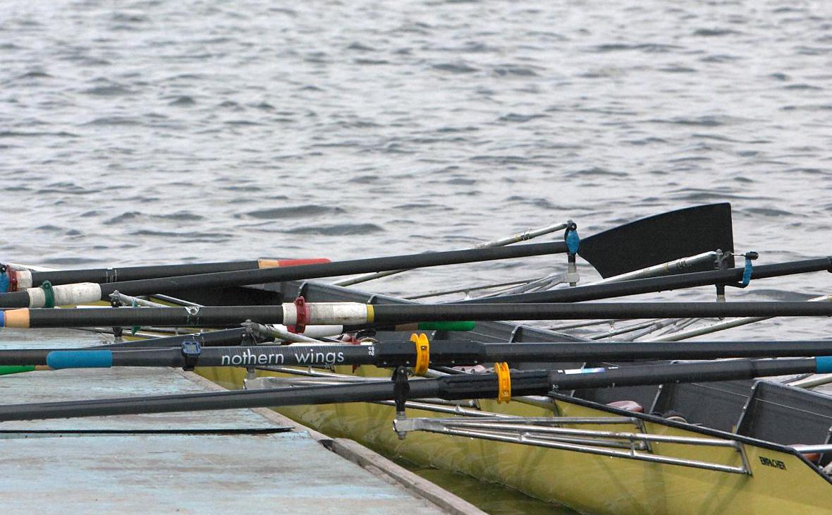
[[(717, 249), (734, 250), (727, 202), (669, 211), (605, 230), (581, 240), (578, 255), (606, 278)], [(734, 266), (733, 258), (728, 266)], [(712, 269), (703, 264), (686, 271)]]

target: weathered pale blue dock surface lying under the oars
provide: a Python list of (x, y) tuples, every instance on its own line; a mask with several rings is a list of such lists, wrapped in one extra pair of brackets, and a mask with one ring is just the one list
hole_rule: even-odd
[[(60, 335), (3, 330), (0, 348), (96, 341)], [(210, 389), (220, 387), (174, 369), (0, 376), (2, 404)], [(269, 409), (2, 423), (0, 456), (4, 513), (482, 513), (357, 443)]]

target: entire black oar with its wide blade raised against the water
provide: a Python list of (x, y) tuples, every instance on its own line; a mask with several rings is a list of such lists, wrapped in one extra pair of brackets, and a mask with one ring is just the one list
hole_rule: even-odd
[[(666, 224), (668, 227), (674, 228), (674, 230), (665, 235), (658, 229), (662, 224)], [(727, 231), (726, 227), (728, 228)], [(657, 230), (659, 233), (656, 233)], [(701, 238), (699, 237), (700, 232), (703, 232)], [(656, 240), (656, 234), (661, 234), (661, 237), (666, 238), (666, 240)], [(710, 206), (697, 206), (651, 216), (650, 218), (637, 220), (630, 224), (607, 230), (599, 235), (590, 236), (581, 240), (581, 250), (579, 250), (579, 253), (597, 269), (612, 270), (612, 275), (617, 275), (620, 272), (637, 270), (645, 266), (655, 265), (656, 263), (677, 259), (686, 255), (694, 255), (706, 250), (715, 250), (717, 248), (726, 250), (728, 246), (733, 245), (729, 236), (729, 205), (715, 204)], [(718, 242), (721, 246), (716, 246), (715, 242)], [(58, 285), (46, 288), (29, 288), (26, 291), (0, 295), (0, 308), (26, 306), (39, 308), (57, 305), (85, 304), (97, 300), (108, 300), (109, 295), (116, 290), (125, 295), (153, 295), (180, 290), (256, 285), (287, 280), (307, 280), (318, 277), (361, 274), (380, 270), (403, 270), (488, 260), (506, 260), (532, 255), (563, 254), (574, 251), (576, 243), (572, 239), (569, 245), (567, 245), (566, 241), (556, 241), (552, 243), (512, 245), (488, 249), (451, 250), (448, 252), (336, 261), (333, 263), (319, 263), (315, 265), (300, 265), (265, 270), (239, 270), (215, 274), (181, 275), (168, 278), (119, 281), (102, 285), (96, 283), (77, 283), (74, 285)], [(656, 255), (666, 255), (670, 252), (670, 250), (661, 250), (660, 252), (656, 250), (657, 248), (671, 249), (674, 255), (671, 255), (668, 259), (656, 258)], [(583, 254), (584, 249), (588, 249), (587, 255)], [(605, 251), (601, 252), (599, 249), (604, 249)], [(638, 251), (636, 252), (635, 249), (638, 249)], [(634, 252), (635, 255), (625, 255), (628, 252)], [(676, 252), (680, 252), (680, 254), (675, 254)], [(626, 265), (618, 263), (619, 260), (622, 260), (622, 263), (626, 263)], [(632, 268), (623, 270), (622, 267)], [(602, 275), (605, 274), (607, 272), (602, 271)]]

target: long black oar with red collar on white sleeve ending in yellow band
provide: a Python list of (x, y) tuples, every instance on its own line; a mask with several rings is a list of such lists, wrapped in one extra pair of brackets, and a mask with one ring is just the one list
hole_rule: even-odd
[[(299, 315), (301, 314), (301, 315)], [(217, 327), (241, 324), (368, 325), (414, 322), (558, 319), (723, 318), (728, 316), (832, 316), (832, 304), (821, 302), (637, 302), (591, 304), (381, 304), (324, 302), (295, 305), (205, 306), (202, 308), (9, 309), (0, 327), (89, 327), (160, 325)]]

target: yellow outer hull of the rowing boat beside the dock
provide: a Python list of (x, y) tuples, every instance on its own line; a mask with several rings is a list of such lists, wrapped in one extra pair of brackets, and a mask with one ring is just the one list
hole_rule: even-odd
[[(197, 371), (226, 388), (240, 388), (245, 377), (242, 369)], [(337, 372), (353, 373), (351, 367), (339, 368)], [(359, 368), (354, 374), (389, 376), (389, 372), (369, 366)], [(551, 409), (520, 402), (497, 404), (489, 400), (481, 401), (481, 405), (486, 411), (523, 417), (546, 417), (553, 413), (564, 417), (617, 416), (561, 399), (552, 400)], [(832, 513), (830, 481), (794, 453), (765, 445), (744, 444), (750, 474), (740, 474), (436, 433), (409, 433), (406, 439), (399, 440), (392, 429), (394, 408), (379, 404), (322, 404), (281, 408), (278, 411), (334, 438), (352, 438), (382, 453), (394, 454), (414, 463), (501, 483), (582, 513)], [(419, 409), (408, 409), (407, 416), (447, 417)], [(632, 426), (627, 428), (624, 425), (588, 428), (632, 430)], [(651, 434), (703, 438), (701, 433), (649, 420), (645, 429)], [(706, 435), (706, 438), (713, 437)], [(734, 448), (678, 443), (652, 445), (654, 452), (673, 458), (734, 467), (742, 465), (740, 453)]]

